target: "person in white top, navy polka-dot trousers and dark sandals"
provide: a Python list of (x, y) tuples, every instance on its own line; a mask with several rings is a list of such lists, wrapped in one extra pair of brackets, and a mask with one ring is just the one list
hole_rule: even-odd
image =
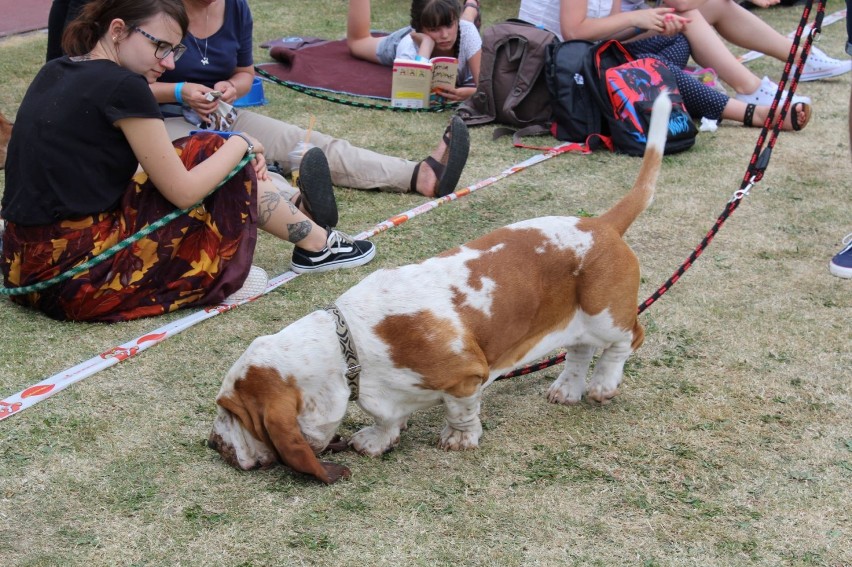
[[(521, 0), (519, 17), (549, 29), (563, 40), (617, 39), (637, 59), (651, 57), (662, 61), (674, 75), (684, 105), (693, 118), (716, 121), (727, 118), (746, 126), (763, 126), (770, 110), (764, 101), (731, 98), (683, 71), (693, 55), (683, 34), (691, 25), (688, 18), (675, 14), (670, 7), (624, 11), (622, 4), (631, 1), (634, 0)], [(713, 43), (708, 52), (730, 53), (715, 33), (708, 34), (706, 41), (708, 45)], [(707, 61), (699, 63), (712, 66)], [(782, 129), (801, 130), (810, 117), (810, 104), (794, 99)]]

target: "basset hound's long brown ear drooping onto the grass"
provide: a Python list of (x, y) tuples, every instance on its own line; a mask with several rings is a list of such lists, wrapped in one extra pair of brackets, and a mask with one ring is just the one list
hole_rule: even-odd
[[(234, 395), (243, 411), (229, 408), (234, 400), (219, 404), (241, 417), (243, 425), (261, 441), (274, 447), (278, 456), (292, 469), (315, 476), (326, 484), (349, 478), (348, 468), (320, 461), (302, 435), (297, 417), (302, 396), (291, 377), (283, 378), (274, 368), (251, 366), (241, 380), (234, 383)], [(246, 420), (250, 423), (246, 423)]]

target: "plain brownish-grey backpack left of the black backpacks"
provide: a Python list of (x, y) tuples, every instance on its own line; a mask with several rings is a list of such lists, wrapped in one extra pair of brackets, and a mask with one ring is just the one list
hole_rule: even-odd
[(468, 125), (497, 122), (516, 128), (549, 129), (550, 93), (544, 75), (552, 32), (522, 20), (507, 20), (482, 33), (476, 93), (458, 109)]

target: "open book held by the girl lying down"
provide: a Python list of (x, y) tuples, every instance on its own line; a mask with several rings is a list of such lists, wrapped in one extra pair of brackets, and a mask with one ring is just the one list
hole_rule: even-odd
[(459, 62), (455, 57), (433, 57), (429, 61), (395, 59), (391, 105), (401, 108), (426, 108), (440, 102), (441, 88), (455, 88)]

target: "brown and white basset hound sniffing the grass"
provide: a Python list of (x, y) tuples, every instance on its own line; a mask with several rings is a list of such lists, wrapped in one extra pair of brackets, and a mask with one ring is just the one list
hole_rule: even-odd
[[(558, 348), (568, 357), (549, 401), (575, 404), (585, 394), (605, 403), (617, 394), (644, 338), (639, 262), (622, 235), (653, 199), (670, 108), (667, 96), (656, 101), (636, 183), (600, 217), (518, 222), (420, 264), (378, 270), (337, 299), (362, 368), (357, 403), (375, 420), (349, 445), (381, 455), (413, 412), (443, 404), (439, 446), (474, 449), (484, 388)], [(335, 329), (330, 313), (315, 311), (259, 337), (236, 361), (209, 439), (227, 462), (246, 470), (284, 462), (326, 483), (349, 476), (316, 456), (348, 404)]]

